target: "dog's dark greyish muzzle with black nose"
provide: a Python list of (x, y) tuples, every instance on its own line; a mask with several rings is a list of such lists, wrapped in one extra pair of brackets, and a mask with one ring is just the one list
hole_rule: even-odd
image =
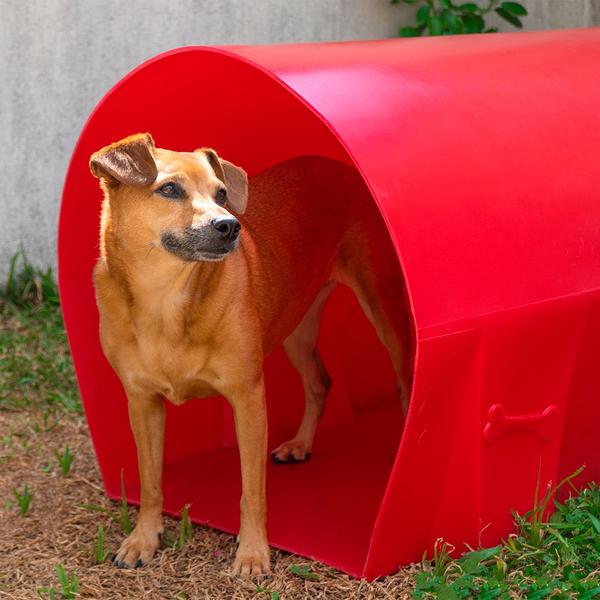
[(219, 217), (201, 227), (164, 231), (165, 250), (186, 261), (222, 260), (239, 244), (241, 225), (235, 217)]

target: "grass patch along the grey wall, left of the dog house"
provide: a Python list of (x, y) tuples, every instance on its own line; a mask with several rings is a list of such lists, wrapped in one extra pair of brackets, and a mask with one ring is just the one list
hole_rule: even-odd
[(82, 412), (56, 282), (18, 252), (0, 285), (0, 410), (25, 408)]

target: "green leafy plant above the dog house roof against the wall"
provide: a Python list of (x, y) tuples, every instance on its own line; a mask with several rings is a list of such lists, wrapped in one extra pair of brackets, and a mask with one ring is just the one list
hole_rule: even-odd
[(400, 29), (401, 37), (420, 35), (453, 35), (459, 33), (494, 33), (497, 27), (488, 27), (486, 17), (495, 13), (514, 27), (522, 28), (520, 17), (527, 16), (527, 9), (519, 2), (486, 0), (485, 5), (476, 2), (453, 2), (452, 0), (390, 0), (391, 4), (417, 4), (416, 23)]

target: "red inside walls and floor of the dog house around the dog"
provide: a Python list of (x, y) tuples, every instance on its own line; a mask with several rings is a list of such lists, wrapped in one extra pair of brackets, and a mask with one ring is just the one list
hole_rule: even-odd
[[(190, 73), (234, 82), (235, 93), (198, 96), (162, 85), (165, 77)], [(256, 177), (286, 161), (315, 157), (346, 165), (354, 178), (345, 197), (380, 219), (380, 243), (389, 247), (401, 274), (384, 217), (342, 142), (272, 75), (230, 55), (199, 50), (149, 61), (117, 84), (90, 116), (72, 157), (61, 207), (59, 262), (65, 322), (107, 494), (120, 498), (123, 478), (133, 503), (139, 501), (139, 476), (127, 401), (98, 341), (90, 275), (98, 258), (102, 194), (87, 163), (102, 146), (142, 131), (150, 132), (161, 148), (213, 147), (247, 171), (251, 189)], [(314, 193), (309, 195), (318, 199), (322, 177), (315, 176), (310, 186)], [(286, 198), (280, 201), (285, 210)], [(343, 285), (324, 309), (319, 349), (333, 386), (312, 458), (302, 464), (268, 464), (269, 541), (361, 575), (404, 418), (388, 352)], [(272, 449), (293, 436), (304, 396), (281, 348), (267, 357), (265, 380)], [(167, 513), (177, 515), (190, 504), (195, 522), (237, 532), (239, 459), (224, 399), (168, 406), (163, 488)]]

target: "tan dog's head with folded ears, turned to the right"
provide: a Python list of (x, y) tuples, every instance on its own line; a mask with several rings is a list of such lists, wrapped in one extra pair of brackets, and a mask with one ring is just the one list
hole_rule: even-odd
[(211, 148), (172, 152), (148, 133), (95, 152), (100, 178), (119, 235), (139, 246), (160, 247), (185, 261), (222, 260), (239, 243), (248, 200), (245, 171)]

